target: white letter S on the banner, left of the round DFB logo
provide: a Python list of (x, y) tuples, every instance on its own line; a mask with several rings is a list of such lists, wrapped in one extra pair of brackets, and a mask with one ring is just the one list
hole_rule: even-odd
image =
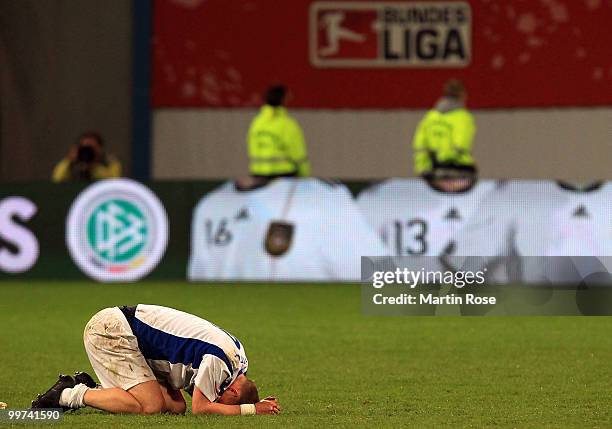
[(36, 205), (23, 197), (0, 200), (0, 270), (23, 273), (38, 260), (39, 245), (36, 236), (16, 222), (29, 221), (37, 212)]

